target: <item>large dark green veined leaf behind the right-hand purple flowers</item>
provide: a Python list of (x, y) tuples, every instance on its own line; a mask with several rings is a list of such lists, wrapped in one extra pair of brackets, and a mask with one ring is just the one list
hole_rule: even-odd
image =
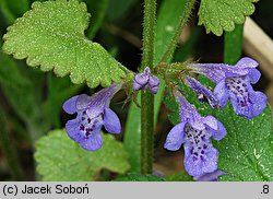
[[(200, 79), (205, 85), (211, 85), (206, 78)], [(234, 113), (228, 105), (219, 110), (213, 110), (207, 104), (199, 103), (197, 95), (189, 87), (181, 85), (183, 95), (194, 104), (202, 116), (213, 115), (226, 128), (227, 136), (221, 141), (214, 141), (218, 149), (218, 169), (227, 175), (221, 180), (273, 180), (273, 131), (270, 107), (258, 117), (248, 120)], [(169, 116), (174, 125), (179, 121), (178, 105), (174, 98), (166, 97), (165, 104), (171, 109)]]

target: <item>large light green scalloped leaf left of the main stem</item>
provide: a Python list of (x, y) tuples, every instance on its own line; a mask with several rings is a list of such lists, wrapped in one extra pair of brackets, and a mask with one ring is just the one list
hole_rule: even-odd
[(54, 69), (59, 77), (70, 73), (75, 84), (109, 86), (124, 71), (99, 44), (85, 38), (88, 19), (85, 3), (76, 0), (34, 2), (8, 27), (3, 50), (16, 59), (27, 58), (28, 66), (40, 66), (43, 71)]

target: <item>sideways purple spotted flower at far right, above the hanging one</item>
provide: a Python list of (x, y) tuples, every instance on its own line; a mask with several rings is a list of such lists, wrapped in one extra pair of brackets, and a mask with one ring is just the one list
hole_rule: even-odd
[(242, 58), (235, 66), (224, 63), (189, 65), (198, 73), (206, 75), (216, 83), (214, 94), (221, 107), (230, 99), (236, 114), (251, 119), (266, 107), (268, 97), (262, 92), (256, 92), (251, 84), (261, 77), (258, 62), (251, 58)]

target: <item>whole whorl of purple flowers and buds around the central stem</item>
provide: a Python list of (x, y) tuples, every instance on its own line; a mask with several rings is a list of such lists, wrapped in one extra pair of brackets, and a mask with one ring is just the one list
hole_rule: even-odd
[[(177, 74), (181, 74), (179, 80), (194, 93), (204, 96), (204, 102), (212, 108), (223, 108), (230, 99), (237, 115), (251, 119), (261, 114), (266, 106), (266, 96), (254, 91), (251, 85), (261, 77), (257, 67), (258, 62), (253, 59), (242, 58), (235, 66), (189, 63), (182, 68), (188, 73), (178, 71)], [(177, 69), (179, 68), (174, 71)], [(195, 80), (192, 73), (204, 74), (216, 83), (214, 91)], [(132, 87), (134, 91), (145, 90), (156, 94), (159, 79), (146, 67), (143, 73), (134, 75)], [(103, 144), (100, 137), (103, 126), (110, 133), (119, 133), (121, 125), (118, 116), (109, 108), (109, 104), (121, 89), (122, 83), (114, 83), (93, 96), (82, 94), (68, 99), (63, 104), (63, 109), (68, 114), (78, 114), (75, 119), (69, 120), (66, 125), (69, 137), (85, 150), (95, 151)], [(218, 151), (213, 147), (211, 139), (222, 140), (227, 134), (225, 127), (213, 116), (202, 117), (177, 86), (174, 86), (171, 92), (179, 105), (180, 122), (168, 133), (164, 148), (177, 151), (183, 145), (186, 171), (195, 180), (217, 180), (217, 177), (225, 173), (217, 168)]]

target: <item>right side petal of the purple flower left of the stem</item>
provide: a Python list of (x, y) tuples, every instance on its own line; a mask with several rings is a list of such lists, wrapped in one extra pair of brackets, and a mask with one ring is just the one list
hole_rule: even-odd
[(120, 120), (110, 108), (105, 108), (104, 127), (110, 133), (120, 133), (121, 131)]

